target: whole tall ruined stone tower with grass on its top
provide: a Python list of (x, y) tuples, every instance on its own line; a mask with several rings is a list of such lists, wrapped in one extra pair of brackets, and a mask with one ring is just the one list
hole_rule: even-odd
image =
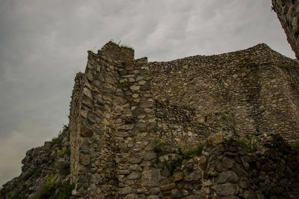
[(131, 48), (109, 42), (98, 54), (88, 52), (86, 71), (75, 78), (70, 112), (74, 196), (124, 198), (141, 185), (157, 186), (148, 179), (155, 175), (156, 156), (147, 73), (147, 58), (135, 60)]

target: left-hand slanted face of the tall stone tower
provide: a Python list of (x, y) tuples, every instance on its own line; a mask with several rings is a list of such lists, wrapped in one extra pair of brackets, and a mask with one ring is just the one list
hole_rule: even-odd
[[(117, 91), (115, 63), (88, 52), (78, 103), (71, 114), (71, 171), (75, 196), (101, 198), (114, 190), (114, 120), (111, 104)], [(91, 192), (89, 192), (89, 191)]]

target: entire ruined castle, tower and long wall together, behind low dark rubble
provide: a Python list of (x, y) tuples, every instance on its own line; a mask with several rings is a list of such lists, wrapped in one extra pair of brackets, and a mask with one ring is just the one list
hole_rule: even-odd
[(265, 44), (171, 62), (134, 59), (113, 42), (88, 53), (70, 112), (74, 197), (158, 199), (166, 162), (219, 131), (299, 140), (298, 62)]

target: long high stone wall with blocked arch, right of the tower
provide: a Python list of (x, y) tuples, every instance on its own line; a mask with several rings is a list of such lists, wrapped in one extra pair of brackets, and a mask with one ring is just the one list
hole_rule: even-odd
[[(271, 62), (273, 54), (266, 44), (259, 44), (221, 55), (151, 62), (153, 97), (195, 108), (196, 120), (204, 121), (203, 124), (215, 124), (209, 115), (228, 115), (233, 119), (230, 124), (236, 126), (223, 131), (250, 137), (284, 129), (285, 138), (298, 141), (295, 131), (287, 124), (293, 119), (281, 113), (283, 109), (290, 109), (284, 100), (279, 100), (288, 98), (289, 92), (282, 92), (285, 88), (279, 81), (280, 69), (276, 67), (282, 61), (276, 63), (276, 60), (287, 61), (287, 65), (292, 63), (294, 70), (298, 63), (282, 58), (284, 56), (280, 54), (276, 54), (278, 58)], [(290, 83), (289, 80), (286, 82)], [(294, 111), (291, 114), (295, 114)], [(298, 127), (298, 124), (295, 122), (294, 126)], [(226, 128), (225, 125), (218, 127)]]

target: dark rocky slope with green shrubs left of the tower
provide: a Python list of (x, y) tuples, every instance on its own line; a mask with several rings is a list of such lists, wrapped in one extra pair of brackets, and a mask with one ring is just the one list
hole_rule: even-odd
[[(43, 146), (26, 152), (19, 177), (2, 185), (1, 199), (43, 199), (69, 195), (70, 150), (68, 126)], [(52, 196), (51, 199), (56, 199)]]

